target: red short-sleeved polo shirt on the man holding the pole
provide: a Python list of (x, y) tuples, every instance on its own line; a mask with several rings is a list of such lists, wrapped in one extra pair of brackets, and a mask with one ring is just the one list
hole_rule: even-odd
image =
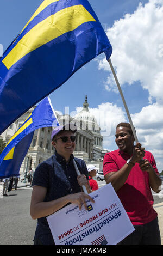
[[(103, 162), (103, 173), (118, 172), (131, 156), (123, 151), (115, 150), (106, 153)], [(159, 175), (153, 155), (145, 151), (145, 157)], [(139, 163), (131, 169), (124, 185), (117, 191), (117, 196), (126, 210), (133, 225), (151, 222), (158, 215), (153, 209), (153, 196), (149, 187), (149, 174), (142, 172)]]

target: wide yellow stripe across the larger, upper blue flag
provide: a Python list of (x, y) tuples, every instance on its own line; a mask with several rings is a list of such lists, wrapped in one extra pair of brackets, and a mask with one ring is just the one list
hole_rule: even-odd
[(10, 69), (18, 60), (47, 42), (73, 31), (85, 22), (96, 21), (83, 5), (73, 5), (49, 16), (33, 27), (3, 59)]

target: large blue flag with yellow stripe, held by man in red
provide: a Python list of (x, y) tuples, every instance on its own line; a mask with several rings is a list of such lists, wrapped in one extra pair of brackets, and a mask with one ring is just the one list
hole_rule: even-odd
[(45, 0), (0, 59), (0, 133), (110, 42), (87, 0)]

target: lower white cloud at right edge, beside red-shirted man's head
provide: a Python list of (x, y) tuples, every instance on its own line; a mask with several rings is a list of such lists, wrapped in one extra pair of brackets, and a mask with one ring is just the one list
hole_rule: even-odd
[(163, 170), (163, 106), (153, 103), (143, 107), (140, 113), (131, 115), (137, 137), (156, 160), (159, 172)]

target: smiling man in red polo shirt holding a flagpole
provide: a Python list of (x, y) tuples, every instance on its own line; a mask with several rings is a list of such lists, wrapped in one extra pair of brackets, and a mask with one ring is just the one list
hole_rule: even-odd
[[(105, 181), (111, 182), (135, 231), (120, 245), (161, 245), (157, 213), (153, 209), (151, 188), (159, 193), (161, 179), (153, 155), (140, 143), (134, 146), (130, 124), (116, 127), (118, 150), (106, 153), (103, 162)], [(143, 160), (142, 160), (143, 158)]]

